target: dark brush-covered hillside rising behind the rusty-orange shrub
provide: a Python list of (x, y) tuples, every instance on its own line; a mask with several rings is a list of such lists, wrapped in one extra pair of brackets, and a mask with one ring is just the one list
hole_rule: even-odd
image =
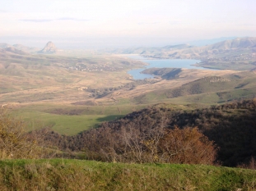
[[(211, 146), (207, 139), (216, 144), (215, 161), (218, 161), (223, 166), (238, 166), (242, 163), (247, 163), (251, 157), (256, 157), (255, 119), (255, 98), (192, 111), (177, 110), (168, 104), (159, 104), (142, 111), (135, 111), (119, 120), (105, 122), (96, 129), (87, 130), (75, 136), (61, 135), (52, 130), (41, 130), (39, 133), (44, 134), (44, 143), (57, 146), (62, 150), (86, 151), (87, 157), (101, 161), (108, 161), (109, 158), (118, 161), (119, 157), (125, 152), (125, 149), (128, 149), (125, 148), (125, 145), (128, 146), (127, 143), (132, 142), (136, 143), (135, 141), (137, 141), (137, 146), (140, 146), (139, 148), (142, 149), (141, 154), (148, 154), (148, 157), (149, 153), (156, 152), (154, 157), (159, 157), (159, 152), (164, 147), (162, 143), (165, 143), (162, 140), (166, 138), (166, 136), (161, 137), (162, 135), (159, 134), (160, 130), (166, 130), (169, 134), (179, 134), (178, 138), (193, 134), (195, 137), (201, 137), (197, 138), (197, 140), (202, 141), (202, 145), (207, 147), (205, 152), (207, 149), (211, 150), (213, 146)], [(197, 130), (194, 132), (179, 132), (177, 127), (179, 127), (179, 130), (197, 127), (198, 133)], [(200, 135), (200, 132), (203, 135)], [(156, 135), (159, 139), (156, 139)], [(133, 141), (128, 142), (131, 139)], [(139, 139), (142, 140), (138, 141)], [(156, 141), (159, 144), (156, 145)], [(197, 141), (190, 141), (193, 143), (193, 147), (198, 145)], [(192, 145), (190, 144), (188, 147), (191, 148)], [(200, 149), (198, 148), (198, 150)], [(135, 150), (133, 153), (135, 153)], [(212, 153), (214, 153), (213, 150)], [(125, 160), (128, 160), (128, 156), (125, 156)], [(152, 158), (151, 160), (158, 159)], [(182, 160), (189, 161), (186, 158), (179, 158), (179, 160), (175, 162), (183, 163), (184, 161)], [(193, 162), (201, 163), (202, 161)]]

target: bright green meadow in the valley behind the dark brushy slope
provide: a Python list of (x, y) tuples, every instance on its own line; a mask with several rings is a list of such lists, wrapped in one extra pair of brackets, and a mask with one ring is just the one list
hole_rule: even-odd
[(26, 130), (49, 126), (59, 134), (74, 135), (89, 130), (103, 121), (113, 121), (146, 105), (66, 106), (51, 104), (27, 105), (12, 110), (13, 115), (28, 122)]

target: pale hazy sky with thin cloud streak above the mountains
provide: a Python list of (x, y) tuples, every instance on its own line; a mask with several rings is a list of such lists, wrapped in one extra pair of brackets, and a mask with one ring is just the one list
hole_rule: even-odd
[(0, 0), (0, 43), (166, 46), (256, 37), (255, 0)]

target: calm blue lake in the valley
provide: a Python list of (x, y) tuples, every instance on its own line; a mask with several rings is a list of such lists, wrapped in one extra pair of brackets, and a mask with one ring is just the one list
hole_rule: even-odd
[(133, 58), (134, 60), (143, 61), (149, 65), (144, 68), (129, 70), (128, 74), (133, 75), (134, 80), (143, 80), (145, 78), (154, 78), (154, 75), (142, 74), (142, 70), (148, 68), (187, 68), (187, 69), (202, 69), (209, 70), (208, 68), (193, 66), (193, 64), (199, 63), (199, 60), (191, 59), (148, 59), (146, 57), (132, 56), (127, 57)]

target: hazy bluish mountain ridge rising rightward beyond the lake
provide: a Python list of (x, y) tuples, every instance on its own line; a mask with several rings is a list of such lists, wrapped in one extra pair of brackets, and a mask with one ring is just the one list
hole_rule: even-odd
[(211, 45), (194, 47), (189, 44), (165, 46), (162, 48), (128, 48), (109, 50), (113, 53), (140, 54), (143, 57), (155, 58), (202, 58), (216, 54), (240, 52), (242, 49), (256, 52), (256, 38), (237, 38), (213, 43)]

